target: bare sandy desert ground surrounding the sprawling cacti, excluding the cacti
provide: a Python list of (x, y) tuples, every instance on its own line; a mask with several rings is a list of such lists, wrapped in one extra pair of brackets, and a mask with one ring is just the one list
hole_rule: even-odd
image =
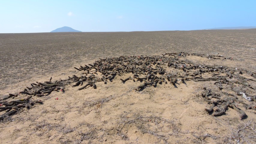
[[(92, 64), (98, 58), (121, 55), (161, 55), (164, 52), (218, 54), (229, 59), (186, 56), (197, 64), (221, 65), (255, 72), (256, 29), (0, 34), (0, 95), (16, 94), (32, 82), (83, 75), (73, 67)], [(170, 72), (175, 71), (168, 69)], [(244, 72), (243, 76), (251, 77)], [(99, 76), (101, 73), (97, 73)], [(254, 143), (254, 109), (238, 107), (247, 117), (228, 108), (214, 117), (204, 109), (211, 105), (199, 94), (213, 82), (192, 80), (134, 88), (140, 82), (121, 79), (97, 82), (97, 88), (65, 86), (37, 98), (0, 123), (0, 143)], [(255, 82), (250, 83), (255, 89)], [(228, 90), (228, 89), (227, 89)], [(255, 91), (254, 91), (255, 92)], [(254, 93), (255, 94), (255, 93)], [(26, 97), (19, 95), (17, 99)], [(56, 100), (58, 98), (58, 100)], [(239, 100), (255, 106), (255, 102)], [(0, 112), (1, 114), (3, 112)]]

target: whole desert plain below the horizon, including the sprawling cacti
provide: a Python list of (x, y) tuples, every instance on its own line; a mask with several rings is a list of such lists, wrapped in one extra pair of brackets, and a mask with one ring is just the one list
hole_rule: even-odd
[(255, 143), (255, 62), (256, 29), (0, 34), (0, 143)]

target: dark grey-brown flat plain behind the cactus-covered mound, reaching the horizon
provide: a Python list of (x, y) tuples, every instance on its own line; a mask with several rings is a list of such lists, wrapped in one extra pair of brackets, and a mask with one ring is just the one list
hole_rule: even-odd
[[(73, 65), (121, 55), (220, 54), (256, 68), (256, 29), (0, 34), (0, 89)], [(234, 66), (235, 67), (235, 66)]]

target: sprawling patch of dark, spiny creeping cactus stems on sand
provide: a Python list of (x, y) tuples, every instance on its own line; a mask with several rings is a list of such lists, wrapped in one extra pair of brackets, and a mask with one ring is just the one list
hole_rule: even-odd
[[(103, 81), (112, 82), (115, 77), (132, 73), (126, 79), (120, 79), (125, 84), (126, 81), (141, 82), (142, 84), (135, 88), (136, 91), (143, 91), (148, 86), (161, 85), (162, 83), (171, 84), (174, 87), (177, 81), (194, 82), (213, 82), (217, 85), (218, 91), (212, 91), (211, 88), (203, 87), (200, 96), (205, 98), (205, 102), (210, 104), (210, 108), (205, 108), (206, 112), (213, 116), (224, 115), (227, 107), (230, 107), (240, 113), (240, 119), (246, 119), (244, 111), (239, 109), (238, 103), (243, 104), (246, 109), (255, 110), (255, 87), (250, 83), (255, 83), (256, 73), (248, 70), (236, 69), (226, 66), (195, 64), (189, 60), (181, 60), (181, 57), (194, 55), (209, 59), (230, 59), (222, 55), (201, 55), (180, 53), (164, 53), (162, 56), (120, 56), (116, 58), (103, 58), (95, 61), (93, 64), (74, 67), (76, 70), (83, 71), (81, 76), (73, 75), (65, 80), (52, 82), (52, 77), (46, 82), (31, 83), (18, 94), (9, 94), (0, 98), (0, 120), (17, 113), (23, 108), (32, 108), (35, 104), (42, 104), (41, 100), (31, 100), (32, 97), (45, 97), (53, 91), (64, 92), (65, 85), (74, 83), (73, 87), (79, 87), (78, 90), (85, 88), (97, 88), (96, 83)], [(225, 89), (228, 88), (228, 89)], [(24, 95), (24, 98), (17, 99), (18, 95)], [(238, 97), (250, 98), (251, 101), (241, 101)], [(12, 100), (11, 100), (12, 99)], [(58, 98), (56, 98), (58, 99)]]

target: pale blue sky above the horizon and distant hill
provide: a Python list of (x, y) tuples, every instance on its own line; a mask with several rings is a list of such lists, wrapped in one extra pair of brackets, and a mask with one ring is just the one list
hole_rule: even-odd
[(1, 0), (0, 33), (196, 30), (256, 26), (255, 0)]

